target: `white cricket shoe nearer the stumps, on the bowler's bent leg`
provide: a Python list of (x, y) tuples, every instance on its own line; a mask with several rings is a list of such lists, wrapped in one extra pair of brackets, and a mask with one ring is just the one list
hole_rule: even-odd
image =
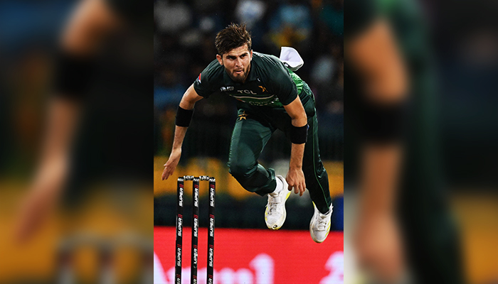
[[(268, 229), (277, 230), (285, 222), (287, 212), (285, 212), (285, 201), (290, 196), (290, 190), (287, 189), (288, 185), (282, 175), (277, 175), (277, 179), (282, 182), (277, 182), (275, 191), (268, 194), (268, 203), (265, 209), (265, 222)], [(279, 186), (280, 184), (280, 186)]]

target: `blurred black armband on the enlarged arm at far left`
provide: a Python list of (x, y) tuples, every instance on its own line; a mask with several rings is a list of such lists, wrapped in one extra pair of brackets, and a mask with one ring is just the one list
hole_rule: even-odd
[(60, 51), (55, 58), (55, 92), (60, 97), (81, 97), (88, 92), (95, 60)]

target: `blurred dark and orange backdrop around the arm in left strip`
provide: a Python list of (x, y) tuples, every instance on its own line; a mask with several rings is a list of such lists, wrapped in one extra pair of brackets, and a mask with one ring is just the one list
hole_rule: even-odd
[(16, 236), (41, 170), (61, 33), (79, 3), (0, 1), (0, 283), (152, 283), (152, 2), (123, 16), (95, 58), (63, 193), (33, 234)]

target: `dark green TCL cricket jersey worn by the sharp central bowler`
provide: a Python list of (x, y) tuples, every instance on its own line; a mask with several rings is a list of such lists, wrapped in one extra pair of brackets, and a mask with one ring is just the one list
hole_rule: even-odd
[(234, 82), (220, 65), (213, 60), (194, 82), (194, 89), (202, 97), (221, 93), (234, 97), (242, 104), (257, 107), (282, 107), (299, 95), (307, 116), (314, 115), (314, 98), (308, 84), (282, 61), (273, 56), (253, 52), (253, 60), (245, 83)]

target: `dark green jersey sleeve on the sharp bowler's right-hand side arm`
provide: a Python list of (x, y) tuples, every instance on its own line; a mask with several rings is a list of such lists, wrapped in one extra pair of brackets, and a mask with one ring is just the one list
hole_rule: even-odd
[(268, 92), (276, 94), (284, 106), (294, 102), (297, 97), (297, 87), (290, 77), (287, 67), (282, 62), (275, 62), (270, 71), (270, 82), (267, 82)]

